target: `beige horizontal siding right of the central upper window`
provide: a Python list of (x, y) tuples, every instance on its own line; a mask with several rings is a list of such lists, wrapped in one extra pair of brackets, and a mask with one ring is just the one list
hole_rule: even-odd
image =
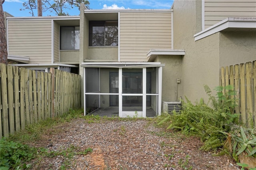
[(150, 49), (171, 49), (171, 12), (120, 13), (120, 61), (147, 61)]

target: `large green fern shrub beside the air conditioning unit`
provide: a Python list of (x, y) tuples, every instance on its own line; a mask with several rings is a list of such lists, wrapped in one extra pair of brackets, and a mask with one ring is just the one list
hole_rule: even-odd
[[(232, 98), (235, 94), (232, 86), (216, 87), (217, 97), (212, 95), (212, 91), (207, 85), (204, 86), (204, 89), (209, 97), (211, 107), (204, 103), (203, 99), (192, 104), (186, 97), (186, 102), (182, 103), (180, 114), (174, 112), (173, 115), (168, 115), (158, 124), (170, 119), (168, 128), (199, 136), (204, 142), (201, 149), (207, 151), (224, 146), (226, 134), (222, 132), (230, 132), (232, 125), (238, 123), (238, 114), (234, 113), (236, 104), (235, 99)], [(225, 94), (222, 93), (224, 90)]]

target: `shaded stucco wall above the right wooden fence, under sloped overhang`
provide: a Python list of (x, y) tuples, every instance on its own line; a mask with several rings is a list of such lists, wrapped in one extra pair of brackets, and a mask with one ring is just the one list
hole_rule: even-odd
[(256, 32), (221, 32), (220, 67), (254, 61)]

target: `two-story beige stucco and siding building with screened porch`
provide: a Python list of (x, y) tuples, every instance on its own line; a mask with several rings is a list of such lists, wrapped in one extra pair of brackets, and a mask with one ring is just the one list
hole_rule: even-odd
[[(167, 10), (88, 10), (7, 17), (8, 59), (83, 79), (85, 113), (160, 115), (162, 105), (208, 99), (222, 66), (256, 60), (256, 0), (175, 0)], [(256, 90), (256, 89), (255, 89)]]

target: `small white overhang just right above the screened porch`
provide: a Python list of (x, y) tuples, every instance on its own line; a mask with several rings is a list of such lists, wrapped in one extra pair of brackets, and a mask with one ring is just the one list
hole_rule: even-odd
[(147, 53), (148, 61), (154, 61), (158, 55), (185, 55), (183, 49), (150, 49)]

